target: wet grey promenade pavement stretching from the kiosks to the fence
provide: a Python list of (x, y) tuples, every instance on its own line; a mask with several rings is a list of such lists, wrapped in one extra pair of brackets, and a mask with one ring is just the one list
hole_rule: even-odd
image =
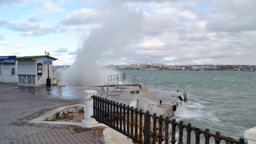
[[(84, 140), (83, 135), (74, 133), (73, 129), (77, 127), (74, 125), (28, 123), (60, 106), (84, 104), (84, 90), (96, 90), (100, 94), (100, 87), (33, 87), (0, 83), (0, 144), (45, 143), (40, 142), (41, 139), (48, 140), (46, 143), (85, 143), (86, 140), (87, 143), (103, 143), (103, 135), (96, 131), (83, 133), (90, 138)], [(139, 89), (122, 89), (123, 92), (118, 93), (120, 96), (110, 96), (109, 99), (129, 104), (139, 95), (131, 94), (131, 90)], [(67, 131), (68, 135), (65, 134)], [(65, 136), (72, 137), (72, 140), (67, 141)]]

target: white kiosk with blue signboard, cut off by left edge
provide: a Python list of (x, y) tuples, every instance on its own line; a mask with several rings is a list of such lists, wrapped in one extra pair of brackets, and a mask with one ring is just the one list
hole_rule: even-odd
[(17, 61), (16, 56), (0, 56), (0, 82), (17, 83)]

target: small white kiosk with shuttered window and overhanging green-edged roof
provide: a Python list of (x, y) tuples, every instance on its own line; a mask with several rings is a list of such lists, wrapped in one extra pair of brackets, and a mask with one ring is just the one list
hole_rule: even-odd
[[(47, 55), (14, 58), (13, 60), (18, 61), (18, 85), (46, 85), (48, 67), (44, 61), (48, 59), (51, 61), (58, 60)], [(52, 76), (52, 64), (49, 64), (49, 74)]]

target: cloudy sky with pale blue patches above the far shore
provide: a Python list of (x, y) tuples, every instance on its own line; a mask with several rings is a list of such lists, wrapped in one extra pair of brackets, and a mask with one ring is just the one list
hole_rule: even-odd
[(255, 0), (0, 0), (0, 56), (71, 65), (248, 64)]

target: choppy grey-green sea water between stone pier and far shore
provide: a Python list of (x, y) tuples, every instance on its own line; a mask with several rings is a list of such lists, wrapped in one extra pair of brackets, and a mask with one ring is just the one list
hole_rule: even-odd
[[(138, 73), (149, 92), (186, 91), (187, 108), (175, 117), (210, 132), (238, 139), (256, 126), (256, 72), (118, 71)], [(185, 131), (185, 130), (184, 130)]]

